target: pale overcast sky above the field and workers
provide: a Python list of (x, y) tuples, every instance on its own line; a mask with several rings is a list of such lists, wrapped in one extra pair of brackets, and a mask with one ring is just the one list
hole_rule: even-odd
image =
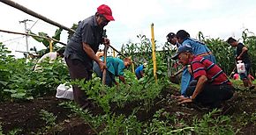
[[(211, 38), (228, 39), (233, 36), (241, 38), (242, 32), (248, 28), (256, 32), (255, 0), (15, 0), (42, 16), (50, 18), (61, 25), (72, 27), (73, 23), (94, 15), (101, 4), (108, 4), (116, 19), (105, 28), (112, 46), (117, 50), (129, 40), (138, 42), (137, 35), (145, 34), (151, 38), (150, 25), (154, 23), (154, 39), (161, 46), (169, 32), (184, 29), (192, 38), (198, 32)], [(32, 32), (46, 32), (53, 36), (57, 29), (42, 20), (0, 3), (0, 29), (25, 32), (24, 24), (19, 21), (30, 19), (27, 28)], [(38, 21), (37, 21), (38, 20)], [(37, 21), (37, 22), (36, 22)], [(36, 22), (36, 23), (35, 23)], [(67, 33), (64, 31), (61, 41), (66, 43)], [(0, 32), (0, 42), (10, 47), (11, 51), (26, 51), (26, 40), (21, 35)], [(29, 47), (43, 46), (28, 39)], [(20, 57), (22, 54), (14, 53)]]

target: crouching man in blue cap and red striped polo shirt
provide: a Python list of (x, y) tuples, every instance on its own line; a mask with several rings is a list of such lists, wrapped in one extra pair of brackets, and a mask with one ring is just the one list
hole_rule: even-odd
[(180, 103), (200, 103), (210, 108), (218, 108), (223, 101), (230, 99), (234, 93), (234, 87), (222, 68), (210, 60), (192, 53), (190, 46), (180, 46), (173, 56), (185, 65), (191, 65), (192, 75), (195, 81), (186, 89), (185, 96), (180, 96)]

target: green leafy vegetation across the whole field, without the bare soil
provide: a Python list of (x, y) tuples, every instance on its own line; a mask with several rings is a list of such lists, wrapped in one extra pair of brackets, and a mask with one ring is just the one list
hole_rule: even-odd
[[(256, 38), (247, 34), (245, 31), (243, 36), (245, 45), (249, 47), (252, 57), (255, 57), (253, 52), (256, 50), (253, 50), (255, 46), (252, 45), (255, 44)], [(175, 102), (170, 98), (170, 94), (179, 89), (177, 85), (169, 82), (167, 74), (168, 67), (176, 63), (176, 61), (168, 60), (175, 49), (165, 44), (161, 48), (163, 51), (156, 53), (158, 82), (155, 83), (150, 40), (144, 35), (139, 35), (138, 38), (139, 43), (126, 44), (122, 47), (122, 52), (127, 56), (132, 56), (136, 67), (147, 62), (145, 77), (137, 80), (131, 69), (128, 69), (124, 72), (127, 83), (120, 82), (120, 85), (111, 88), (102, 85), (98, 77), (86, 83), (84, 80), (71, 82), (85, 90), (88, 98), (102, 110), (95, 114), (92, 110), (80, 109), (73, 102), (63, 103), (65, 108), (81, 117), (94, 134), (236, 134), (241, 128), (255, 124), (256, 114), (253, 110), (252, 112), (245, 111), (241, 116), (235, 117), (220, 115), (221, 110), (209, 111), (201, 117), (198, 114), (185, 114), (182, 110), (175, 110), (174, 114), (170, 113), (169, 108), (177, 108), (177, 106), (170, 106)], [(204, 38), (202, 40), (215, 53), (222, 69), (230, 74), (235, 67), (233, 48), (222, 39)], [(60, 83), (70, 82), (67, 67), (64, 66), (62, 60), (56, 60), (51, 64), (43, 62), (40, 64), (40, 70), (33, 71), (35, 61), (15, 59), (10, 55), (10, 51), (2, 43), (0, 44), (1, 101), (20, 102), (33, 100), (35, 97), (52, 96)], [(252, 68), (255, 69), (255, 65), (252, 65)], [(237, 90), (237, 93), (250, 92), (248, 89), (243, 89), (241, 81), (232, 82), (237, 89), (241, 89)], [(174, 89), (169, 89), (169, 87)], [(247, 98), (253, 98), (253, 96)], [(139, 114), (147, 115), (147, 119), (139, 117)], [(57, 117), (53, 113), (41, 110), (39, 115), (47, 126), (38, 134), (57, 126)], [(239, 124), (237, 129), (233, 124), (235, 122)], [(3, 129), (0, 126), (0, 134), (2, 132)], [(20, 132), (22, 130), (18, 128), (14, 129), (12, 134)]]

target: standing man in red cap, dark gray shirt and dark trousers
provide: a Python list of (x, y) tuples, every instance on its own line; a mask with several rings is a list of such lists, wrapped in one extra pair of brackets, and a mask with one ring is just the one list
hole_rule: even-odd
[[(108, 25), (109, 21), (114, 21), (112, 11), (108, 5), (102, 4), (97, 8), (94, 16), (79, 23), (64, 52), (64, 59), (72, 80), (85, 79), (86, 82), (91, 80), (93, 60), (102, 70), (106, 68), (106, 65), (95, 53), (100, 44), (109, 45), (109, 39), (103, 37), (103, 27)], [(74, 101), (83, 109), (89, 107), (91, 104), (88, 102), (85, 92), (75, 85), (72, 88)]]

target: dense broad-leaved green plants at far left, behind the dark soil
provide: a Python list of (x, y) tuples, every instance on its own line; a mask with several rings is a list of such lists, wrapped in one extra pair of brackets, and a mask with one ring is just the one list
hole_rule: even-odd
[(36, 61), (15, 59), (0, 43), (0, 100), (30, 100), (56, 91), (56, 86), (69, 80), (66, 66), (60, 60), (42, 62), (34, 71)]

